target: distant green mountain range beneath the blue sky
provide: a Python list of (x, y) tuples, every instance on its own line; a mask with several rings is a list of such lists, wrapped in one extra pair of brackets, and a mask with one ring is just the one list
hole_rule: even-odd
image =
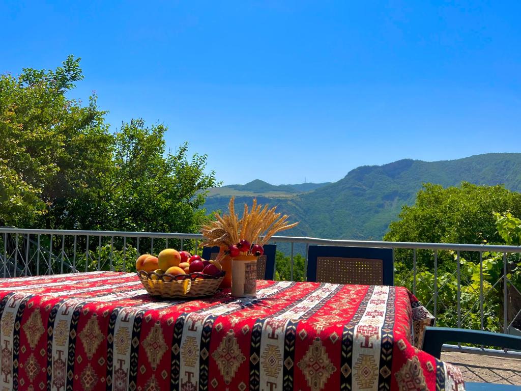
[(521, 153), (489, 153), (438, 162), (404, 159), (357, 167), (329, 184), (274, 186), (254, 180), (212, 189), (204, 207), (208, 212), (226, 211), (232, 195), (237, 205), (250, 204), (256, 197), (261, 203), (278, 205), (291, 221), (300, 221), (288, 235), (380, 240), (402, 206), (414, 203), (423, 183), (447, 187), (462, 181), (503, 184), (521, 191)]

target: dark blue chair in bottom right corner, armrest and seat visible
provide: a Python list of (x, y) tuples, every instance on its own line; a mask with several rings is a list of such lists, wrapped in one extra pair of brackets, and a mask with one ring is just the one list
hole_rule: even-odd
[[(468, 330), (449, 327), (426, 327), (423, 350), (437, 359), (441, 356), (441, 347), (446, 342), (487, 344), (503, 348), (521, 350), (521, 337), (480, 330)], [(519, 391), (521, 387), (510, 384), (465, 382), (467, 391)]]

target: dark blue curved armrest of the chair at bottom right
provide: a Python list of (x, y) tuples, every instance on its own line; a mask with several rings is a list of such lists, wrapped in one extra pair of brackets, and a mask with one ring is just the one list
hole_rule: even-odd
[(423, 350), (440, 358), (441, 346), (446, 342), (499, 346), (521, 350), (521, 337), (515, 335), (490, 333), (488, 331), (468, 330), (449, 327), (426, 327)]

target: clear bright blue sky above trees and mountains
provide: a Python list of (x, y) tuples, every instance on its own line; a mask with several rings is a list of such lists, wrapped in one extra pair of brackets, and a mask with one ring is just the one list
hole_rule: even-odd
[(521, 152), (521, 3), (0, 2), (0, 72), (82, 58), (107, 121), (164, 123), (225, 184)]

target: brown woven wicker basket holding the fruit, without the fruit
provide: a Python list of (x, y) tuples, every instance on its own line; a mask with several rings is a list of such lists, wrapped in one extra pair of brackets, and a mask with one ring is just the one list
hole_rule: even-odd
[(216, 276), (203, 273), (190, 274), (157, 274), (156, 272), (139, 271), (141, 284), (148, 294), (165, 299), (191, 299), (194, 297), (212, 296), (225, 277), (226, 272)]

